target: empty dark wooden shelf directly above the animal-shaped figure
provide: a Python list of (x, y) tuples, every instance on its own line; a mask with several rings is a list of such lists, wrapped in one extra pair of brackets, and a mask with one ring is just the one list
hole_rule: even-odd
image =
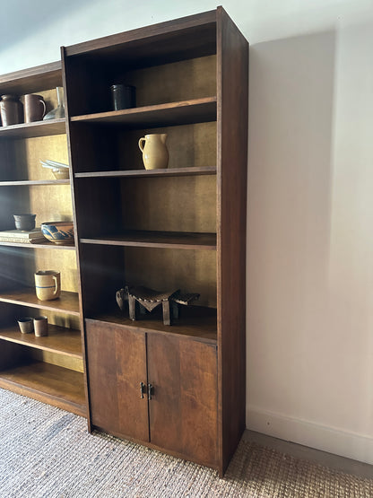
[(82, 244), (108, 246), (216, 250), (215, 233), (127, 231), (121, 235), (82, 238), (80, 241)]

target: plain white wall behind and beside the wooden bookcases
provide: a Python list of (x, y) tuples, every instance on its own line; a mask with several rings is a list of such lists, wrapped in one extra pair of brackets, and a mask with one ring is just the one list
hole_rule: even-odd
[[(247, 427), (373, 463), (373, 4), (223, 6), (250, 41)], [(215, 7), (13, 0), (0, 74)]]

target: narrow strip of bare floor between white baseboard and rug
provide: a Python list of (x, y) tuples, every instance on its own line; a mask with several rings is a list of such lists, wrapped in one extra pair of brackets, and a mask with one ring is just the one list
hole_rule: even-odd
[(314, 450), (307, 446), (290, 441), (282, 441), (281, 439), (254, 431), (245, 431), (243, 439), (246, 441), (255, 441), (268, 448), (273, 448), (273, 450), (282, 451), (282, 453), (287, 453), (296, 459), (307, 459), (325, 467), (333, 468), (334, 470), (373, 479), (373, 465), (369, 465), (368, 463), (346, 459), (332, 453), (327, 453), (326, 451)]

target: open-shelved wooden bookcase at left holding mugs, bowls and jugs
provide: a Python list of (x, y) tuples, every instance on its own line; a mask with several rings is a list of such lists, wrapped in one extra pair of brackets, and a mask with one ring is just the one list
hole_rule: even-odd
[[(0, 76), (0, 94), (42, 94), (56, 107), (61, 63)], [(14, 228), (13, 214), (36, 213), (37, 223), (56, 214), (72, 218), (69, 180), (53, 179), (40, 159), (67, 160), (65, 119), (0, 127), (0, 230)], [(74, 246), (0, 242), (0, 387), (86, 416), (80, 307)], [(63, 293), (39, 301), (33, 274), (59, 269)], [(47, 315), (49, 335), (21, 334), (16, 319)]]

